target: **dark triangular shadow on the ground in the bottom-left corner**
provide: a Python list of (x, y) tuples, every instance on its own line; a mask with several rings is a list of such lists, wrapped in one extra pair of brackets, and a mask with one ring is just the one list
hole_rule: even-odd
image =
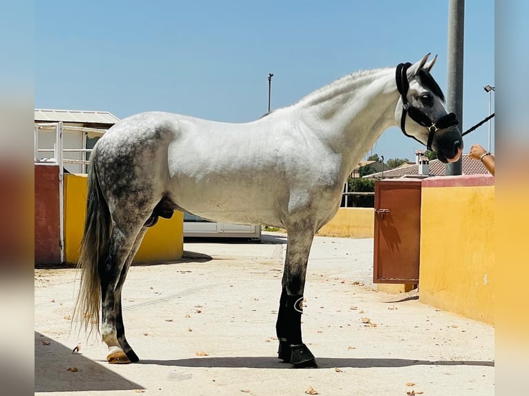
[(35, 332), (35, 392), (56, 394), (132, 389), (143, 389), (143, 386), (128, 381), (80, 353), (72, 353), (71, 348)]

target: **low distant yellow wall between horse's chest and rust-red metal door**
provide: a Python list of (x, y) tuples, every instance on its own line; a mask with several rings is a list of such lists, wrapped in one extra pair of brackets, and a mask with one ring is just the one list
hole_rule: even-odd
[(340, 208), (318, 235), (322, 237), (372, 238), (374, 208)]

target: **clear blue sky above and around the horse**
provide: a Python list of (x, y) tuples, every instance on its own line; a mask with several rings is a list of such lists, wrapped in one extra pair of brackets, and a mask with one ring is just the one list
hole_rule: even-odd
[[(439, 55), (432, 75), (446, 92), (447, 37), (448, 1), (37, 1), (35, 108), (251, 121), (267, 111), (269, 72), (280, 108), (427, 52)], [(487, 84), (494, 1), (467, 0), (463, 130), (488, 115)], [(472, 143), (488, 146), (487, 124), (465, 137), (465, 152)], [(372, 152), (413, 159), (417, 148), (391, 128)]]

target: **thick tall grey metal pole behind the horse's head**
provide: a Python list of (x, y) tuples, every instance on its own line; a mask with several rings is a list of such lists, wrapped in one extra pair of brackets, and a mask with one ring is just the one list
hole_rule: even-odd
[[(463, 128), (463, 39), (465, 32), (465, 0), (449, 0), (448, 4), (448, 89), (446, 107), (459, 119)], [(461, 175), (461, 159), (445, 165), (446, 175)]]

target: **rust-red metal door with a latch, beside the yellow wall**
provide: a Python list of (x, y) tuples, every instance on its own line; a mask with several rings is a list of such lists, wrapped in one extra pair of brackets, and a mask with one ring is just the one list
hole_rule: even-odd
[(376, 284), (419, 284), (421, 180), (375, 183)]

